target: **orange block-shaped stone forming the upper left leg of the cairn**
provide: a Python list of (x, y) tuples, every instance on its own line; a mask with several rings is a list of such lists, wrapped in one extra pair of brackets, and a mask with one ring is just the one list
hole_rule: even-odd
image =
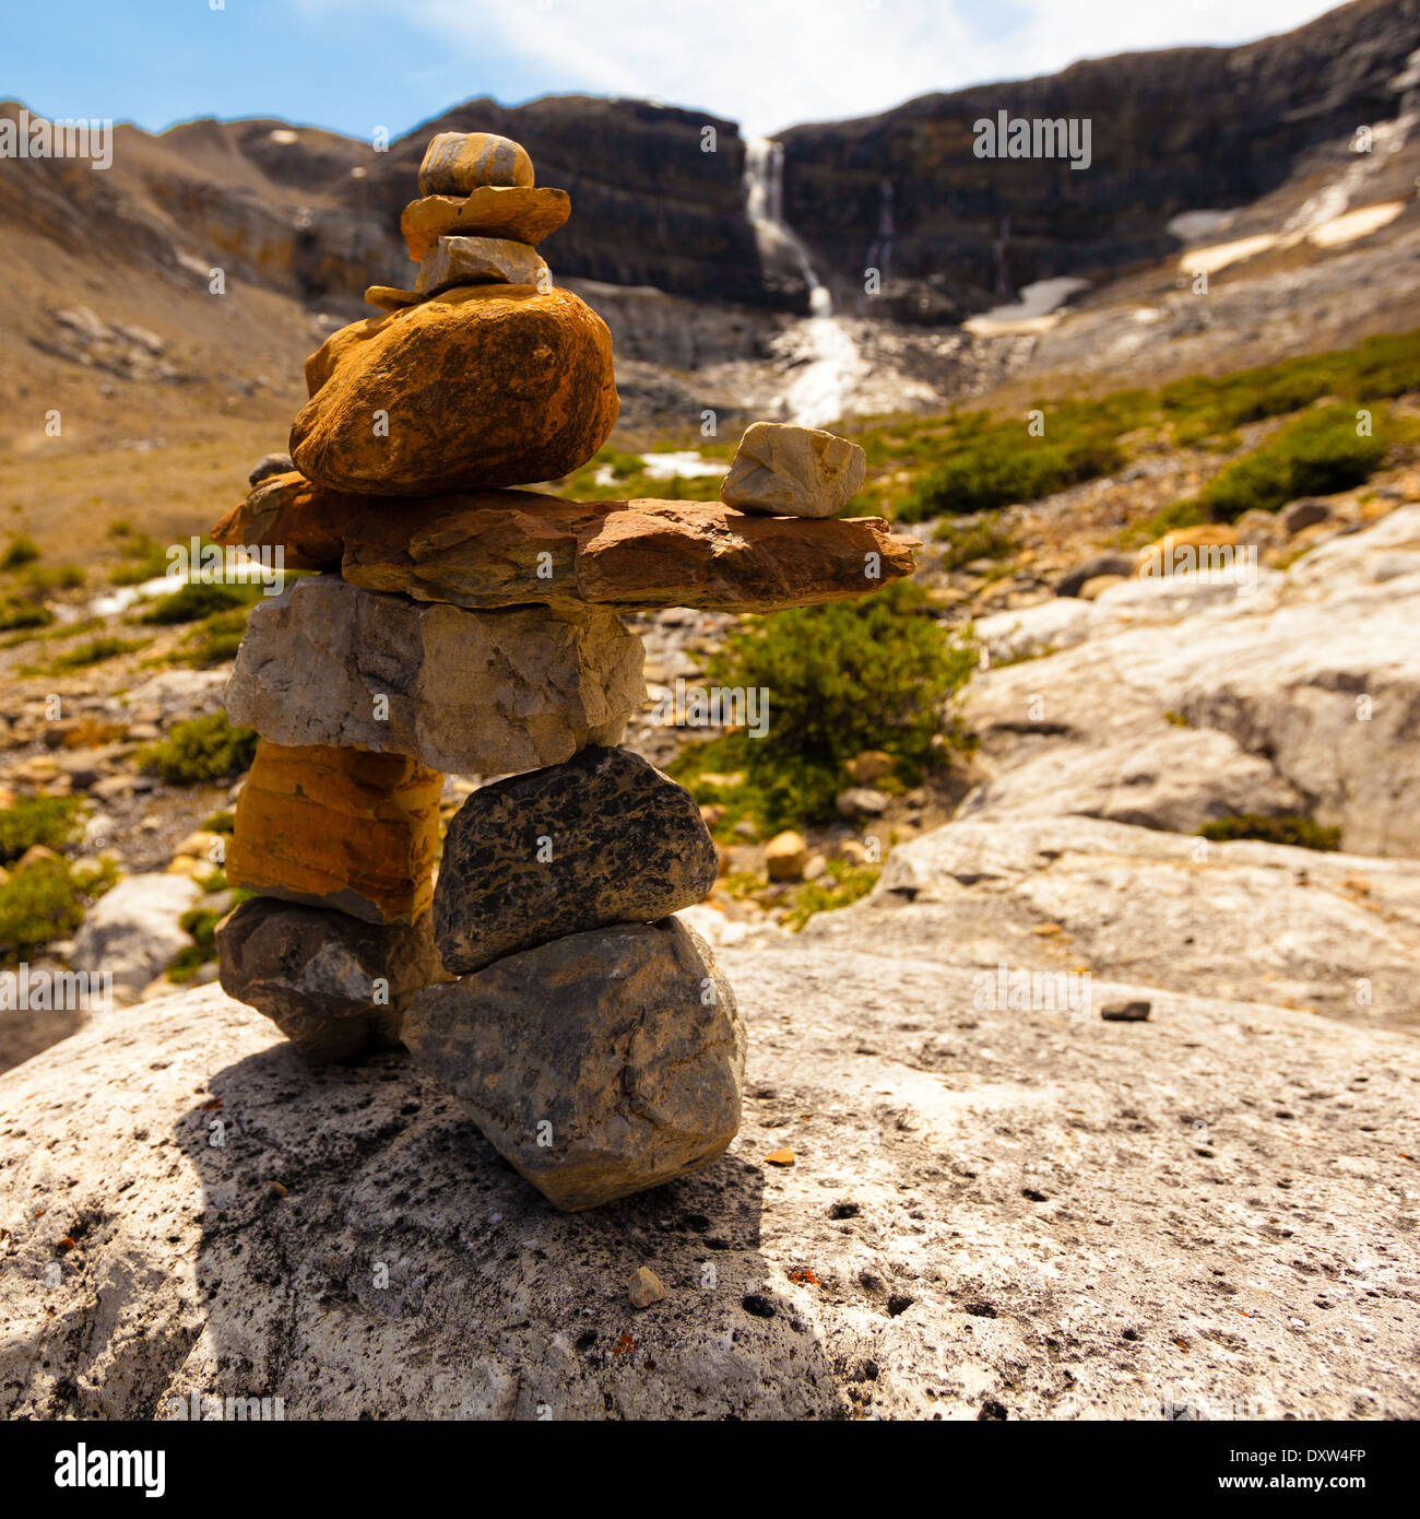
[(237, 799), (226, 878), (368, 924), (428, 911), (443, 776), (405, 755), (261, 740)]

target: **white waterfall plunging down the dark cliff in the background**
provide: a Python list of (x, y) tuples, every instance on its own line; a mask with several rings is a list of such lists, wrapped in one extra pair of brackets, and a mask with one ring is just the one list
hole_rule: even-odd
[(863, 360), (843, 322), (834, 316), (834, 298), (814, 273), (808, 249), (784, 220), (784, 144), (752, 137), (744, 144), (744, 211), (755, 229), (765, 263), (785, 258), (808, 286), (809, 316), (799, 324), (806, 362), (785, 390), (784, 410), (802, 427), (825, 427), (843, 416)]

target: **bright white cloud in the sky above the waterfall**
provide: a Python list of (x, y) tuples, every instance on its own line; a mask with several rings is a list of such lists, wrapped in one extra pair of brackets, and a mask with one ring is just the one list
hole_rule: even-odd
[[(768, 132), (1080, 58), (1291, 30), (1326, 0), (407, 0), (469, 61), (547, 93), (655, 97)], [(1007, 24), (1015, 18), (1015, 24)], [(497, 90), (494, 93), (498, 93)]]

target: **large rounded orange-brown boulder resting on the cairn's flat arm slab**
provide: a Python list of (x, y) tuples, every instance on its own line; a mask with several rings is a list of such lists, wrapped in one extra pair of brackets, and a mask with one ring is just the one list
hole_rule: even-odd
[(620, 410), (612, 334), (570, 290), (460, 286), (352, 334), (328, 363), (290, 453), (308, 480), (357, 495), (556, 480)]

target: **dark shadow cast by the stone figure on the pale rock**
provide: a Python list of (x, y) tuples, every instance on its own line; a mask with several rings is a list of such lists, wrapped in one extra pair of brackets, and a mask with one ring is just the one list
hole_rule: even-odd
[[(173, 1394), (289, 1419), (847, 1413), (767, 1285), (758, 1167), (560, 1214), (404, 1050), (313, 1071), (282, 1044), (208, 1091), (175, 1129), (204, 1183), (205, 1334)], [(638, 1311), (642, 1265), (667, 1297)]]

